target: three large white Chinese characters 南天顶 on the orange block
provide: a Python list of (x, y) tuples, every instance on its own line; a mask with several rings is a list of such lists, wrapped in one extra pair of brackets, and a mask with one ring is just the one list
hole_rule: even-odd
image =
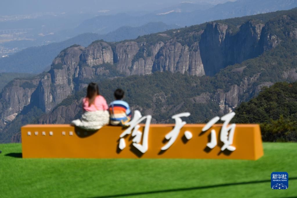
[[(210, 129), (215, 123), (217, 123), (217, 121), (219, 121), (220, 119), (224, 121), (222, 129), (220, 131), (220, 140), (224, 143), (224, 145), (221, 148), (221, 151), (224, 151), (225, 149), (229, 151), (235, 151), (236, 149), (234, 146), (232, 146), (236, 125), (230, 124), (230, 126), (228, 126), (229, 122), (234, 117), (234, 115), (235, 113), (231, 112), (222, 116), (221, 118), (219, 118), (218, 116), (214, 117), (202, 129), (202, 131), (205, 132), (208, 129)], [(166, 145), (164, 145), (161, 148), (161, 151), (165, 151), (171, 145), (173, 145), (173, 143), (176, 141), (179, 135), (181, 128), (186, 124), (185, 121), (182, 121), (181, 117), (189, 117), (189, 116), (190, 116), (190, 113), (188, 112), (179, 113), (172, 116), (172, 119), (175, 120), (175, 126), (168, 134), (166, 134), (165, 139), (169, 141), (167, 142)], [(139, 131), (139, 128), (140, 128), (139, 123), (141, 123), (145, 119), (146, 119), (146, 123), (142, 133), (141, 131)], [(129, 127), (120, 135), (119, 149), (123, 150), (126, 147), (124, 136), (132, 133), (131, 134), (133, 137), (132, 145), (135, 148), (137, 148), (141, 153), (145, 153), (149, 149), (148, 140), (149, 140), (150, 123), (151, 123), (151, 115), (142, 116), (141, 113), (138, 110), (136, 110), (134, 113), (133, 119), (129, 123), (127, 123)], [(192, 133), (189, 131), (185, 131), (184, 136), (187, 138), (187, 140), (190, 140), (192, 138)], [(141, 138), (142, 138), (142, 144), (140, 144)], [(211, 149), (217, 145), (217, 135), (214, 129), (211, 130), (211, 141), (208, 142), (206, 145)]]

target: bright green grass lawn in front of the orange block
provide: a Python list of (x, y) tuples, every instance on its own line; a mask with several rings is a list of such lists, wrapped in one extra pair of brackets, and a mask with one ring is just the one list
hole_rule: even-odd
[[(257, 161), (22, 159), (0, 144), (0, 197), (297, 197), (297, 143), (264, 143)], [(270, 188), (271, 172), (289, 188)]]

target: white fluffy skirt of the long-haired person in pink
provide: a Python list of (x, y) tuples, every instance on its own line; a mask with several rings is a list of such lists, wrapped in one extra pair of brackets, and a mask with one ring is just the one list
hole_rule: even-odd
[(109, 123), (108, 111), (84, 112), (80, 119), (73, 120), (71, 125), (85, 130), (98, 130)]

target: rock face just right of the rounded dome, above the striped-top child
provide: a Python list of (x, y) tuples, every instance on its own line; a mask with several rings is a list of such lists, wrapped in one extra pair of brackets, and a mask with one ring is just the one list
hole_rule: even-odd
[(117, 69), (130, 75), (132, 70), (132, 60), (139, 50), (137, 42), (125, 42), (116, 45)]

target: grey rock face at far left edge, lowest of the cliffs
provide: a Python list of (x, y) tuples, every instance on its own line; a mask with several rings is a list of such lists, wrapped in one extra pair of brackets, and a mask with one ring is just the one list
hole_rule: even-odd
[(4, 87), (0, 99), (0, 117), (3, 123), (12, 121), (23, 108), (30, 104), (39, 76), (31, 79), (14, 79)]

